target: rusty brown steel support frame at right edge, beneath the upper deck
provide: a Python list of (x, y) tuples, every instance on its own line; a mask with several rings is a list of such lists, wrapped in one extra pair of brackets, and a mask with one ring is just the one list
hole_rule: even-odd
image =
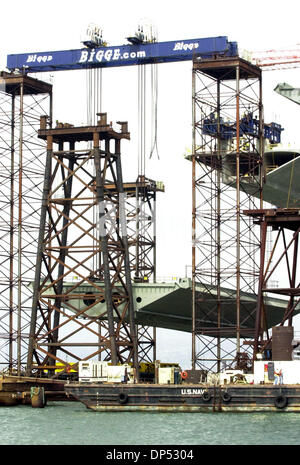
[[(279, 326), (292, 326), (295, 309), (299, 308), (300, 282), (297, 276), (297, 260), (299, 248), (300, 218), (299, 209), (278, 208), (250, 210), (245, 212), (261, 228), (261, 259), (256, 312), (254, 353), (264, 353), (272, 347), (272, 333), (268, 329), (264, 300), (268, 294), (277, 294), (287, 299)], [(267, 251), (268, 231), (274, 231), (274, 241)], [(274, 287), (274, 273), (280, 267), (285, 276), (286, 287)], [(283, 278), (284, 279), (284, 278)]]

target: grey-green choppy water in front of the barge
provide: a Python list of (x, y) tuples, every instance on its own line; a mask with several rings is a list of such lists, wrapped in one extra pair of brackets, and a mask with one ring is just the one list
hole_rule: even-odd
[(80, 402), (0, 407), (1, 445), (299, 445), (300, 414), (94, 412)]

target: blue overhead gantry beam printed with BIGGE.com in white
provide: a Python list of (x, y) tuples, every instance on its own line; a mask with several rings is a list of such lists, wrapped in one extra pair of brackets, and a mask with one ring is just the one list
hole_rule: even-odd
[(237, 43), (226, 36), (7, 56), (7, 68), (26, 73), (130, 66), (192, 60), (195, 56), (235, 56)]

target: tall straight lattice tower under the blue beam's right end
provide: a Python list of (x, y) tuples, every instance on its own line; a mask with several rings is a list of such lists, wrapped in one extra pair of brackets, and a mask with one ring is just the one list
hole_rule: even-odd
[(243, 210), (262, 202), (261, 86), (259, 68), (238, 57), (193, 63), (194, 368), (245, 367), (252, 358), (244, 342), (254, 334), (256, 304), (246, 309), (243, 292), (257, 292), (260, 237)]

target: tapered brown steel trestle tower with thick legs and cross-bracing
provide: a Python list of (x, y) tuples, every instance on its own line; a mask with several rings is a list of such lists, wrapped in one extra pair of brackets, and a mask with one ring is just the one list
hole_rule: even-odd
[[(67, 371), (106, 350), (113, 364), (132, 362), (138, 372), (120, 153), (130, 136), (127, 123), (116, 132), (99, 116), (96, 126), (80, 128), (47, 128), (45, 118), (39, 130), (47, 161), (28, 373), (53, 373), (56, 363)], [(91, 149), (77, 149), (89, 141)]]

